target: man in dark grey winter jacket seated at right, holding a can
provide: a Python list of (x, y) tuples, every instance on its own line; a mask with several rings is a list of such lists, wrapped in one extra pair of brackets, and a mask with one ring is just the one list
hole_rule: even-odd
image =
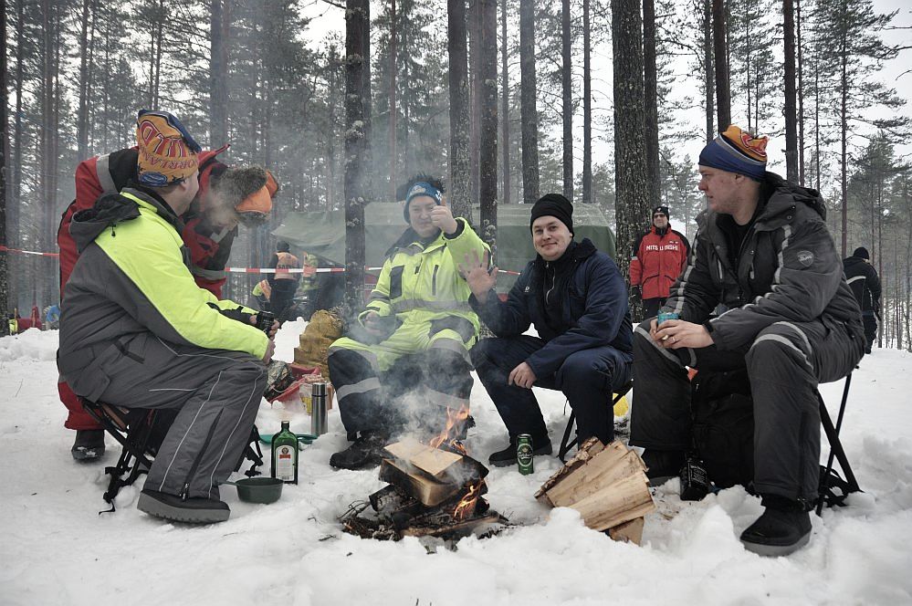
[[(824, 222), (820, 195), (766, 172), (766, 138), (737, 126), (700, 153), (709, 209), (666, 309), (634, 333), (630, 444), (651, 477), (676, 475), (691, 447), (690, 383), (746, 370), (754, 422), (753, 489), (764, 513), (741, 533), (747, 549), (786, 555), (806, 544), (820, 463), (819, 382), (861, 359), (861, 316)], [(727, 310), (712, 313), (721, 305)]]

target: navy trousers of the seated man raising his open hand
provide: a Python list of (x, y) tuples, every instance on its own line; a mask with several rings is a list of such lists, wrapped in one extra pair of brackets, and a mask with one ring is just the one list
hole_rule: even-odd
[[(484, 339), (472, 350), (478, 378), (498, 408), (510, 438), (529, 434), (534, 442), (548, 437), (539, 402), (532, 390), (508, 385), (509, 373), (545, 346), (538, 337), (522, 335)], [(563, 392), (576, 413), (580, 442), (595, 436), (608, 444), (614, 438), (612, 392), (631, 375), (631, 355), (607, 345), (571, 353), (557, 372), (536, 377), (535, 386)]]

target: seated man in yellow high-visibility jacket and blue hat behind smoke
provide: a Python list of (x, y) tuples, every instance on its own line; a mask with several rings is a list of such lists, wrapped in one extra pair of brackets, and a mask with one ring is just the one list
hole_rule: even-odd
[[(355, 469), (379, 462), (389, 438), (408, 416), (396, 402), (414, 387), (422, 401), (420, 422), (443, 429), (446, 409), (468, 409), (472, 391), (468, 351), (479, 321), (468, 306), (471, 290), (459, 273), (466, 256), (489, 247), (466, 219), (455, 218), (443, 184), (413, 178), (405, 198), (410, 228), (387, 253), (371, 300), (349, 335), (330, 347), (330, 380), (342, 423), (354, 444), (330, 457), (330, 465)], [(385, 391), (384, 391), (385, 388)], [(430, 405), (426, 405), (430, 404)]]

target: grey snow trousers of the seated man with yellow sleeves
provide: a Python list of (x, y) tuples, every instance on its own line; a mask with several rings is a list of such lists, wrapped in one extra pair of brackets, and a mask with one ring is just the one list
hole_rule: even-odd
[(180, 409), (144, 487), (218, 498), (218, 483), (231, 475), (257, 419), (267, 383), (262, 361), (240, 351), (177, 346), (152, 333), (88, 355), (88, 367), (65, 373), (79, 395), (126, 408)]

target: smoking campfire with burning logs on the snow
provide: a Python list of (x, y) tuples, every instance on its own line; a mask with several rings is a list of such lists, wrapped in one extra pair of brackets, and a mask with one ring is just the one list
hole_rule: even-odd
[(453, 538), (505, 522), (484, 498), (487, 467), (456, 439), (467, 417), (466, 407), (447, 408), (446, 428), (427, 444), (408, 438), (387, 445), (380, 479), (388, 486), (352, 505), (342, 528), (362, 538)]

